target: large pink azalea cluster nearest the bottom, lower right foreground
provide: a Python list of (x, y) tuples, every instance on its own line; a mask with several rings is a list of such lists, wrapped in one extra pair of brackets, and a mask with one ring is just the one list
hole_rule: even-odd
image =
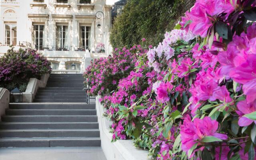
[[(214, 136), (216, 138), (226, 140), (228, 138), (226, 134), (216, 133), (218, 125), (218, 122), (216, 120), (212, 120), (210, 117), (204, 117), (203, 119), (195, 118), (192, 122), (190, 117), (187, 116), (184, 119), (183, 124), (180, 126), (182, 150), (188, 152), (194, 144), (202, 140), (205, 136)], [(198, 142), (198, 145), (200, 145), (200, 142)], [(200, 148), (200, 150), (203, 149), (204, 146)]]

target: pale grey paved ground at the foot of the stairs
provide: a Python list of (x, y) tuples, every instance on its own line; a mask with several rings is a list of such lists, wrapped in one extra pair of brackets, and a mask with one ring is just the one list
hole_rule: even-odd
[(0, 160), (106, 160), (100, 147), (0, 148)]

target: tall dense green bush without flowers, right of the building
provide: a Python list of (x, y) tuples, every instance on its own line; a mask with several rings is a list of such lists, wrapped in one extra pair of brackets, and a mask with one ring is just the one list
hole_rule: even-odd
[(171, 30), (183, 11), (184, 0), (129, 0), (122, 14), (115, 18), (110, 43), (113, 48), (140, 44), (157, 46)]

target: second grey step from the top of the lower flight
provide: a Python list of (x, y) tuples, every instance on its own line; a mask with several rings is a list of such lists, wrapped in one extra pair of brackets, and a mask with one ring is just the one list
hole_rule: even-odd
[(96, 110), (6, 110), (6, 115), (96, 115)]

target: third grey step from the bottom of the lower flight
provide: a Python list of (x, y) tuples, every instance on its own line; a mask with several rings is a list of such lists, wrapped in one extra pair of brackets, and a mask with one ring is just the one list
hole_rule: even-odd
[(98, 122), (0, 122), (0, 129), (98, 129)]

